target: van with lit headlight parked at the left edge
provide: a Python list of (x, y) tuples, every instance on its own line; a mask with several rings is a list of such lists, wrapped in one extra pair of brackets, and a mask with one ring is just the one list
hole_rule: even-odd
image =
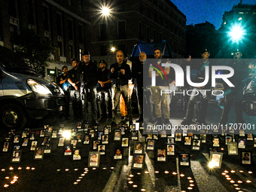
[(20, 129), (29, 118), (58, 114), (65, 99), (57, 84), (39, 78), (15, 53), (0, 46), (0, 128)]

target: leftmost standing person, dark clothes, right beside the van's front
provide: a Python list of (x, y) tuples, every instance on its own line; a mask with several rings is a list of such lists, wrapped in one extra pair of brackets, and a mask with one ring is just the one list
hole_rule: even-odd
[(58, 84), (60, 87), (62, 87), (62, 90), (64, 91), (65, 93), (65, 96), (66, 96), (66, 105), (65, 105), (65, 108), (64, 108), (64, 115), (65, 115), (65, 118), (66, 120), (69, 120), (69, 101), (70, 101), (70, 93), (69, 93), (69, 87), (70, 87), (70, 84), (69, 84), (69, 81), (68, 81), (68, 67), (67, 66), (63, 66), (62, 67), (62, 75), (59, 75), (59, 78), (58, 78)]

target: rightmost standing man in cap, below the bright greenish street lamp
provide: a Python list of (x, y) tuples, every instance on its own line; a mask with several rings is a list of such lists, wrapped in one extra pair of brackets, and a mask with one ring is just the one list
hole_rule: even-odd
[(221, 120), (219, 122), (221, 125), (227, 123), (228, 113), (233, 102), (236, 104), (236, 123), (245, 123), (245, 120), (242, 119), (242, 96), (245, 80), (248, 78), (248, 65), (241, 57), (242, 52), (238, 49), (234, 50), (234, 60), (230, 63), (230, 67), (234, 70), (234, 75), (229, 78), (229, 80), (235, 87), (229, 87), (224, 83), (225, 100)]

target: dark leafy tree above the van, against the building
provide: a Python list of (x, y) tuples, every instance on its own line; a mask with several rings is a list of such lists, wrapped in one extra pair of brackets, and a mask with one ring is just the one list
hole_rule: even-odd
[(17, 47), (16, 53), (20, 58), (35, 70), (41, 77), (45, 76), (45, 67), (47, 59), (55, 48), (44, 37), (38, 35), (32, 29), (25, 29), (20, 35), (17, 35), (15, 42)]

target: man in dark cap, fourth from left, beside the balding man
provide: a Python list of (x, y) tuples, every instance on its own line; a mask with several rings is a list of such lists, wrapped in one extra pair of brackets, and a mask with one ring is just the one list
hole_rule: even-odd
[(102, 100), (100, 102), (100, 108), (102, 110), (102, 119), (106, 117), (112, 118), (112, 100), (110, 88), (111, 79), (108, 79), (108, 69), (106, 69), (105, 60), (101, 60), (99, 61), (97, 91), (102, 96)]

